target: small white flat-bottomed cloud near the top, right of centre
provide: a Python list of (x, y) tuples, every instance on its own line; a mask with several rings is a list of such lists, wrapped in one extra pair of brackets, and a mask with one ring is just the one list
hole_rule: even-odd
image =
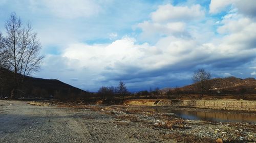
[(200, 5), (173, 6), (171, 4), (159, 6), (157, 11), (151, 14), (154, 22), (188, 21), (204, 17), (204, 11)]

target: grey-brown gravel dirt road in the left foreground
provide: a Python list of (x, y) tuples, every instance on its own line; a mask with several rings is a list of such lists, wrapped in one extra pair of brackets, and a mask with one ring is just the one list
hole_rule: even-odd
[(159, 133), (97, 111), (0, 100), (0, 142), (159, 142)]

